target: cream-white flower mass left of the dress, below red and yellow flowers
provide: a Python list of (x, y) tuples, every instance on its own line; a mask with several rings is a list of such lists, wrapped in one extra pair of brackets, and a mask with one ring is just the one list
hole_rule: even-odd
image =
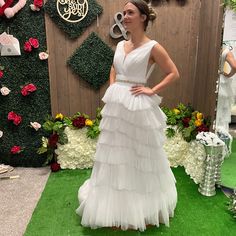
[(87, 137), (87, 128), (65, 128), (68, 143), (57, 144), (55, 153), (62, 169), (84, 169), (93, 166), (97, 139)]

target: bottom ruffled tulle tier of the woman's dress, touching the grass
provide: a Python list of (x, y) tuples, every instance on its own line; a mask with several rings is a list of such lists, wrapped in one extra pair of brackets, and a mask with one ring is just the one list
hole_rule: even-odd
[[(88, 194), (89, 193), (89, 194)], [(152, 194), (141, 194), (126, 190), (115, 190), (107, 186), (92, 187), (90, 180), (79, 190), (80, 207), (77, 214), (82, 215), (81, 224), (93, 229), (98, 227), (121, 227), (144, 231), (146, 225), (169, 226), (177, 201), (174, 186), (163, 182)]]

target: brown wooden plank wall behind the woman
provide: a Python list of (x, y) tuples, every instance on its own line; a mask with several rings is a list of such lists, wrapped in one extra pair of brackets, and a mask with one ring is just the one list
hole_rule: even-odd
[[(115, 49), (118, 40), (109, 36), (109, 29), (114, 24), (114, 14), (122, 11), (125, 0), (97, 2), (104, 10), (99, 22), (95, 21), (75, 40), (69, 39), (46, 15), (51, 104), (54, 115), (58, 112), (73, 115), (80, 111), (94, 117), (96, 108), (103, 106), (101, 98), (108, 83), (100, 90), (94, 91), (66, 66), (67, 58), (91, 32), (96, 32)], [(178, 82), (160, 94), (164, 97), (162, 105), (174, 107), (179, 102), (191, 103), (196, 109), (214, 115), (214, 91), (222, 24), (222, 9), (219, 5), (220, 0), (189, 0), (184, 7), (178, 6), (175, 1), (154, 6), (157, 19), (148, 27), (147, 34), (166, 48), (181, 75)], [(156, 68), (150, 78), (150, 86), (162, 77), (161, 71)]]

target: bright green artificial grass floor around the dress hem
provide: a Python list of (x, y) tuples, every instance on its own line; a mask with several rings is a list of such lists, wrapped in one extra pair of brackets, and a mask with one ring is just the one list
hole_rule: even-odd
[(186, 175), (184, 168), (178, 167), (173, 172), (177, 180), (178, 203), (169, 228), (161, 225), (139, 232), (82, 227), (80, 217), (75, 213), (78, 207), (77, 191), (84, 180), (89, 178), (91, 171), (63, 170), (51, 173), (25, 236), (235, 235), (236, 220), (227, 210), (228, 199), (221, 190), (218, 189), (213, 197), (202, 196), (198, 192), (198, 185)]

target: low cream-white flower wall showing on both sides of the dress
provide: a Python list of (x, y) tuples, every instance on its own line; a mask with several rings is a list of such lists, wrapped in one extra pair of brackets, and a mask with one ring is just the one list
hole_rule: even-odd
[[(55, 153), (62, 169), (84, 169), (93, 166), (97, 139), (86, 135), (87, 129), (65, 128), (68, 143), (57, 145)], [(197, 141), (186, 142), (181, 133), (176, 132), (172, 138), (167, 138), (164, 144), (171, 167), (184, 166), (185, 172), (198, 184), (202, 181), (205, 170), (205, 150)]]

